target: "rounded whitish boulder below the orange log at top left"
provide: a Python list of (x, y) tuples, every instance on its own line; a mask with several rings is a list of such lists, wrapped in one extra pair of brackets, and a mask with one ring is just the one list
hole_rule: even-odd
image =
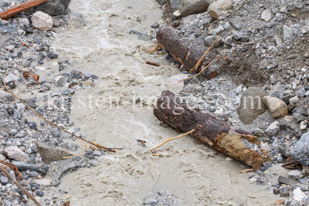
[(31, 17), (32, 25), (37, 29), (48, 31), (53, 28), (53, 19), (42, 11), (37, 11)]

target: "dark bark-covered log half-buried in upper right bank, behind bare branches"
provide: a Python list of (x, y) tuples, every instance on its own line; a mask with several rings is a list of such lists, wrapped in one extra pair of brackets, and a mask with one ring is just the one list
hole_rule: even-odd
[[(178, 33), (175, 33), (176, 29), (170, 26), (164, 26), (159, 29), (157, 33), (157, 42), (161, 48), (164, 48), (172, 57), (174, 57), (177, 61), (180, 62), (185, 68), (188, 70), (192, 69), (199, 59), (201, 59), (202, 55), (205, 51), (201, 51), (198, 49), (189, 49), (184, 46), (180, 39), (181, 37)], [(197, 68), (197, 73), (201, 71), (201, 69), (207, 66), (211, 61), (216, 58), (214, 55), (206, 55), (201, 62), (201, 65)], [(213, 69), (205, 69), (205, 71), (200, 74), (200, 76), (209, 80), (211, 78), (217, 77), (218, 72)]]

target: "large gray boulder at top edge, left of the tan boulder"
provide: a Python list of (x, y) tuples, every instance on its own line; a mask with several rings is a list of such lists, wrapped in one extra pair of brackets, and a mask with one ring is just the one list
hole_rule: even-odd
[(208, 6), (215, 0), (183, 0), (182, 10), (180, 11), (182, 16), (188, 16), (192, 14), (204, 13), (207, 11)]

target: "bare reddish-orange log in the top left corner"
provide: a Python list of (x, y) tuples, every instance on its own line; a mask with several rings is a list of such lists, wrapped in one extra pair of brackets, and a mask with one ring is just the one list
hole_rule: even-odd
[(9, 8), (3, 12), (0, 13), (0, 18), (2, 20), (6, 20), (10, 18), (11, 16), (14, 16), (15, 14), (21, 13), (23, 11), (27, 11), (33, 7), (39, 6), (40, 4), (47, 2), (48, 0), (30, 0), (28, 2), (24, 2), (21, 4), (18, 4), (16, 6), (13, 6), (12, 8)]

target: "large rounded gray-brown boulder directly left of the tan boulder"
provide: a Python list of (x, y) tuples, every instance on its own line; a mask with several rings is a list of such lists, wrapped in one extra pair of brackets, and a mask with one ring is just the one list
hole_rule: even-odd
[(239, 120), (243, 124), (252, 124), (253, 120), (266, 111), (266, 106), (263, 102), (264, 96), (267, 96), (267, 92), (258, 87), (249, 87), (243, 93), (239, 103), (240, 106), (237, 108)]

